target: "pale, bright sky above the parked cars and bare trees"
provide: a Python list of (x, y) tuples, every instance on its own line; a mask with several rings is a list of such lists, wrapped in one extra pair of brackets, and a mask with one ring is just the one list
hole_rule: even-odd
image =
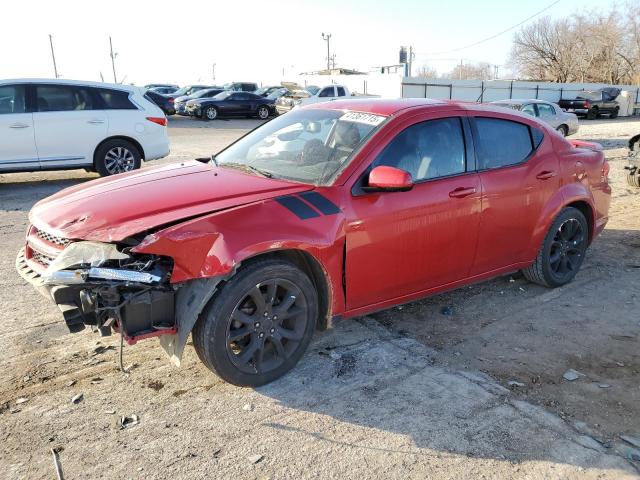
[[(297, 0), (150, 2), (136, 0), (21, 0), (3, 5), (0, 78), (53, 77), (49, 34), (62, 78), (113, 81), (109, 35), (118, 81), (273, 83), (326, 66), (326, 42), (338, 66), (369, 70), (398, 62), (412, 45), (414, 65), (440, 72), (460, 62), (506, 62), (513, 32), (482, 40), (554, 0)], [(608, 8), (613, 0), (561, 0), (542, 15), (568, 16)], [(238, 6), (235, 6), (238, 5)]]

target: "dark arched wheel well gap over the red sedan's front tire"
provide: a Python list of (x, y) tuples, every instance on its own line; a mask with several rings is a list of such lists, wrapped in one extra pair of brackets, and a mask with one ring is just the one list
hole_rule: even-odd
[(327, 276), (320, 263), (313, 257), (313, 255), (304, 252), (302, 250), (274, 250), (271, 252), (265, 252), (256, 256), (250, 257), (242, 262), (246, 265), (256, 260), (264, 260), (265, 258), (274, 258), (284, 261), (288, 261), (297, 266), (300, 270), (306, 273), (313, 286), (318, 291), (318, 330), (325, 330), (327, 328), (328, 314), (331, 305), (330, 289), (327, 281)]

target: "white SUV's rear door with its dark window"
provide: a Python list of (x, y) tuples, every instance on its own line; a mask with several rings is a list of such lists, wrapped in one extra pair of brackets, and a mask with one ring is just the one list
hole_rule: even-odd
[(36, 147), (43, 169), (93, 164), (107, 134), (107, 116), (90, 88), (36, 84), (33, 114)]

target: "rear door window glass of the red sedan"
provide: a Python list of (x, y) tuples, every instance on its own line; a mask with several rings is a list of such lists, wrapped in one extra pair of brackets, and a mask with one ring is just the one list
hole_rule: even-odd
[(498, 118), (476, 117), (480, 169), (523, 162), (533, 151), (529, 126)]

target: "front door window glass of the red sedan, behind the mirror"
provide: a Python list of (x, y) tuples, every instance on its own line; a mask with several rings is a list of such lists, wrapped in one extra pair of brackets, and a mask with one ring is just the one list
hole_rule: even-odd
[(373, 166), (388, 165), (411, 174), (414, 181), (464, 173), (465, 146), (458, 117), (417, 123), (403, 130)]

